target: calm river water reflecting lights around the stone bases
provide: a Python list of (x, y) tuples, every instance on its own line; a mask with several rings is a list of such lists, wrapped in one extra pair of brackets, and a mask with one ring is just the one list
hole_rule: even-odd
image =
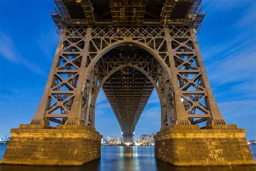
[[(0, 145), (0, 159), (3, 157), (6, 145)], [(256, 156), (256, 145), (251, 145)], [(42, 166), (7, 166), (0, 165), (0, 171), (255, 171), (256, 166), (239, 167), (172, 167), (154, 158), (154, 146), (119, 147), (103, 146), (102, 157), (79, 167), (42, 167)]]

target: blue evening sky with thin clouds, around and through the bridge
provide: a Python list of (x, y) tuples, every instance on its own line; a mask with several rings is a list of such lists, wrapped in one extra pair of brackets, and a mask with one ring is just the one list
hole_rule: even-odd
[[(213, 94), (227, 123), (256, 139), (256, 1), (202, 4), (206, 17), (198, 41)], [(1, 0), (0, 138), (29, 123), (42, 97), (59, 38), (50, 17), (54, 5), (52, 0)], [(121, 137), (103, 91), (97, 99), (96, 129), (105, 138)], [(159, 130), (160, 104), (153, 91), (134, 138)]]

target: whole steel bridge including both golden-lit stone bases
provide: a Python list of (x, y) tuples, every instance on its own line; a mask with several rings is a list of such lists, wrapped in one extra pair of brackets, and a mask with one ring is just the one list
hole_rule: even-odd
[(101, 88), (127, 144), (156, 89), (156, 158), (176, 166), (254, 163), (246, 131), (226, 123), (208, 82), (196, 38), (205, 16), (200, 0), (55, 3), (60, 38), (44, 94), (31, 122), (11, 130), (3, 163), (82, 165), (99, 158)]

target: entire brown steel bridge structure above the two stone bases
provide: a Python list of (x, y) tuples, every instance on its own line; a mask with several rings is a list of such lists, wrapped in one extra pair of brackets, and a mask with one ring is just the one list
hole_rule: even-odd
[(196, 39), (204, 17), (200, 1), (55, 2), (59, 11), (52, 18), (60, 40), (31, 124), (83, 124), (95, 130), (100, 88), (127, 141), (153, 88), (161, 105), (161, 130), (226, 124)]

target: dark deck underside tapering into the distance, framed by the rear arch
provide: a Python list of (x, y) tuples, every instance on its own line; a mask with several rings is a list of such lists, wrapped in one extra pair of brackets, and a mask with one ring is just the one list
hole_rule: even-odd
[(131, 141), (138, 119), (153, 90), (152, 83), (138, 70), (123, 68), (106, 80), (103, 90), (121, 126), (123, 141)]

